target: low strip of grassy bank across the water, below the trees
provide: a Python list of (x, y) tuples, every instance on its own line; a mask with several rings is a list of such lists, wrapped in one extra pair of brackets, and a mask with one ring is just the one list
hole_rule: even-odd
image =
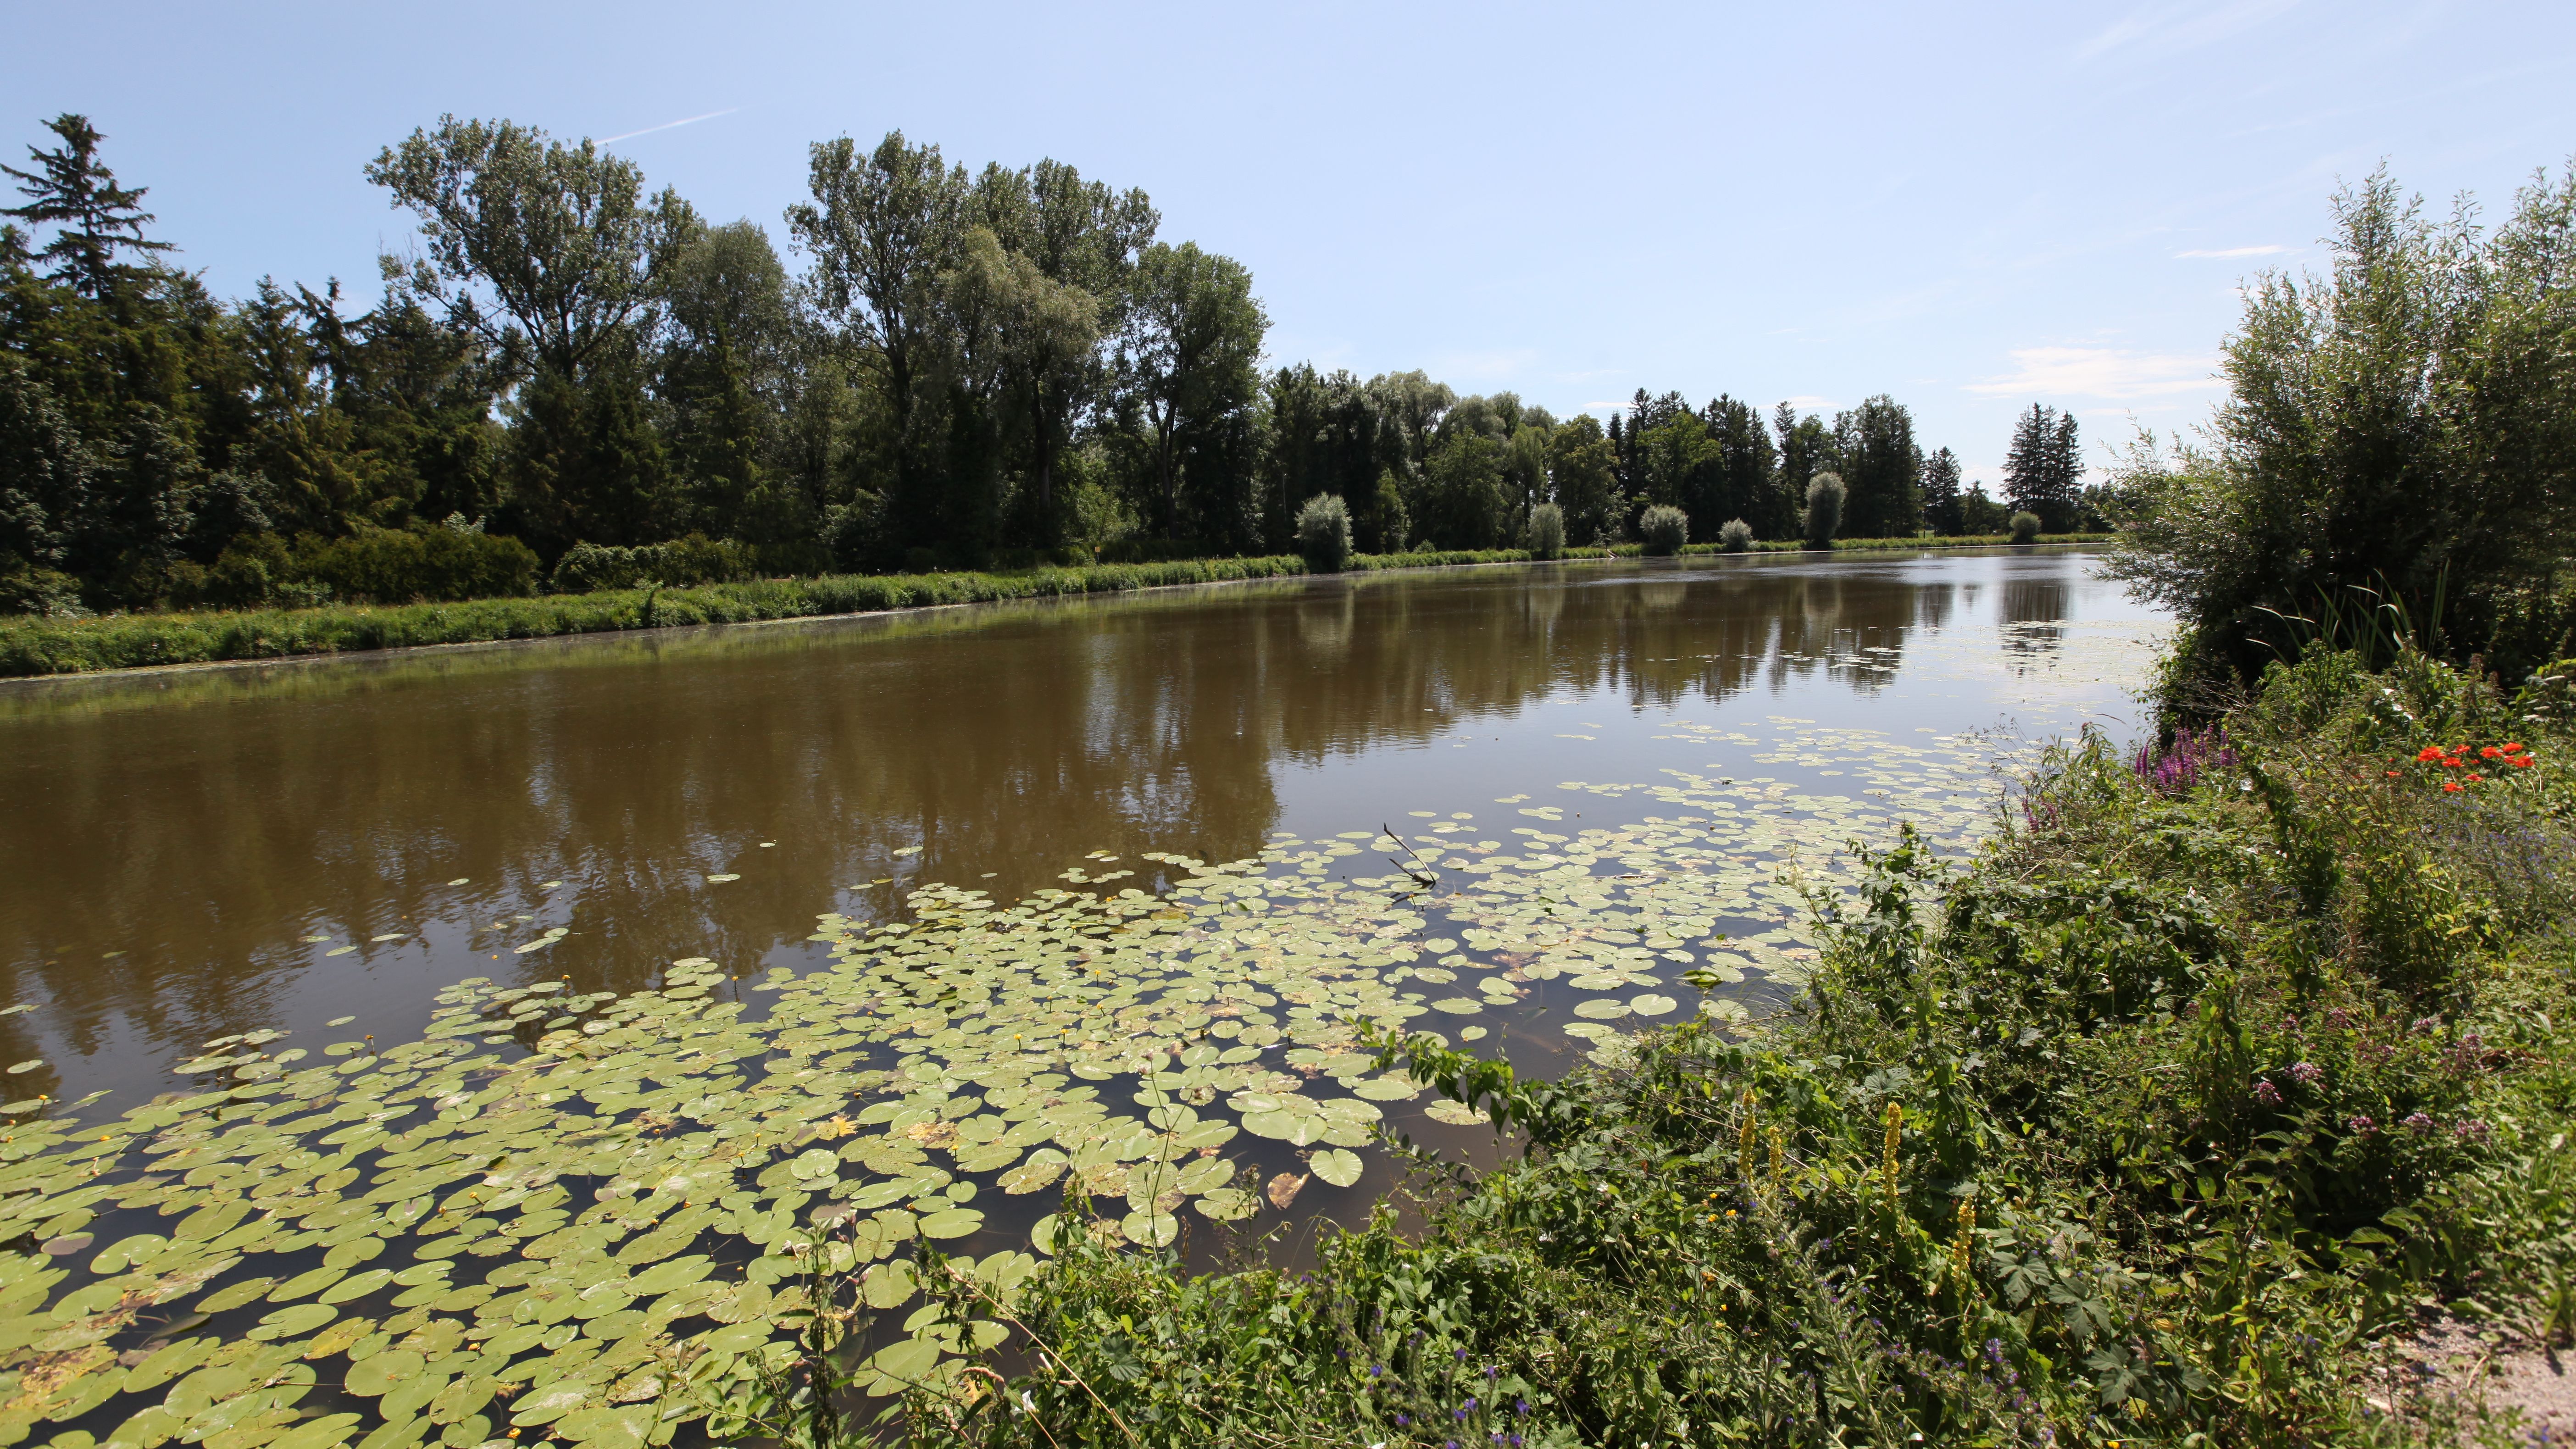
[[(2045, 536), (2043, 544), (2099, 541), (2097, 534)], [(1844, 539), (1837, 552), (1999, 547), (1991, 539)], [(1801, 552), (1798, 544), (1754, 544)], [(1692, 544), (1685, 554), (1721, 552)], [(1636, 557), (1638, 547), (1571, 549), (1566, 559)], [(1355, 572), (1533, 562), (1528, 549), (1358, 554)], [(1025, 572), (824, 575), (701, 588), (618, 588), (466, 603), (252, 608), (204, 614), (111, 614), (98, 619), (0, 619), (0, 678), (75, 676), (155, 665), (276, 660), (353, 650), (549, 639), (677, 624), (752, 624), (881, 614), (948, 603), (1128, 593), (1193, 583), (1236, 583), (1303, 575), (1296, 557), (1180, 559), (1159, 565), (1095, 565)]]

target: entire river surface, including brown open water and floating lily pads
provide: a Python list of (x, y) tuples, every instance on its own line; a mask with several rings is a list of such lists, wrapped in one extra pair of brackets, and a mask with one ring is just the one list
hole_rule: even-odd
[(1064, 1230), (1208, 1266), (1363, 1220), (1388, 1134), (1502, 1150), (1386, 1034), (1551, 1075), (1770, 1011), (1855, 843), (1973, 851), (2043, 740), (2133, 735), (2166, 621), (2094, 567), (1443, 570), (5, 686), (0, 1431), (639, 1444), (742, 1392), (817, 1232), (891, 1395), (963, 1364), (925, 1245), (1010, 1294)]

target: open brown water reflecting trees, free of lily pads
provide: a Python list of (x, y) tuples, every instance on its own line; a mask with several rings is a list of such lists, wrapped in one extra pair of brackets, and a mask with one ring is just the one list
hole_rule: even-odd
[(634, 990), (675, 957), (804, 967), (819, 913), (894, 915), (920, 882), (1015, 897), (1087, 851), (1236, 859), (1280, 830), (1649, 779), (1685, 719), (2125, 732), (2156, 629), (2081, 552), (1924, 552), (13, 683), (0, 1000), (36, 1011), (0, 1018), (0, 1060), (44, 1060), (15, 1096), (131, 1104), (219, 1034), (355, 1016), (404, 1039), (469, 975)]

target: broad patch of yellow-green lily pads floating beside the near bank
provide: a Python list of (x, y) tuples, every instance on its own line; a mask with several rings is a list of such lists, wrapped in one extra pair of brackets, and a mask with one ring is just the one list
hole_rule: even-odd
[(822, 915), (829, 964), (801, 975), (477, 977), (420, 1039), (255, 1031), (124, 1116), (10, 1104), (0, 1444), (662, 1441), (781, 1348), (819, 1222), (886, 1315), (871, 1387), (938, 1377), (940, 1315), (896, 1318), (912, 1243), (1007, 1297), (1066, 1227), (1185, 1245), (1352, 1189), (1388, 1114), (1476, 1122), (1381, 1073), (1373, 1026), (1615, 1062), (1633, 1026), (1777, 1000), (1814, 957), (1803, 892), (1852, 882), (1842, 846), (1896, 820), (1973, 841), (2009, 750), (1759, 727), (1667, 740), (1850, 794), (1690, 763), (1244, 861), (1095, 853), (1020, 902), (935, 884), (907, 920)]

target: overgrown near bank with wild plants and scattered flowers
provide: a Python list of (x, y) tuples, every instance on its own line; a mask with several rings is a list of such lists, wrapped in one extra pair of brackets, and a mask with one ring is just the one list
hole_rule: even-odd
[[(904, 1431), (2452, 1441), (2478, 1426), (2409, 1395), (2393, 1336), (2576, 1328), (2571, 743), (2416, 655), (2275, 670), (2138, 761), (2087, 740), (1976, 861), (1901, 846), (1860, 905), (1819, 897), (1824, 967), (1770, 1021), (1558, 1085), (1404, 1042), (1522, 1147), (1422, 1163), (1414, 1227), (1381, 1209), (1314, 1271), (1211, 1276), (1059, 1230), (1007, 1299), (922, 1250), (989, 1348)], [(866, 1312), (855, 1274), (809, 1292)], [(719, 1436), (868, 1431), (799, 1377), (853, 1320), (804, 1323)]]

